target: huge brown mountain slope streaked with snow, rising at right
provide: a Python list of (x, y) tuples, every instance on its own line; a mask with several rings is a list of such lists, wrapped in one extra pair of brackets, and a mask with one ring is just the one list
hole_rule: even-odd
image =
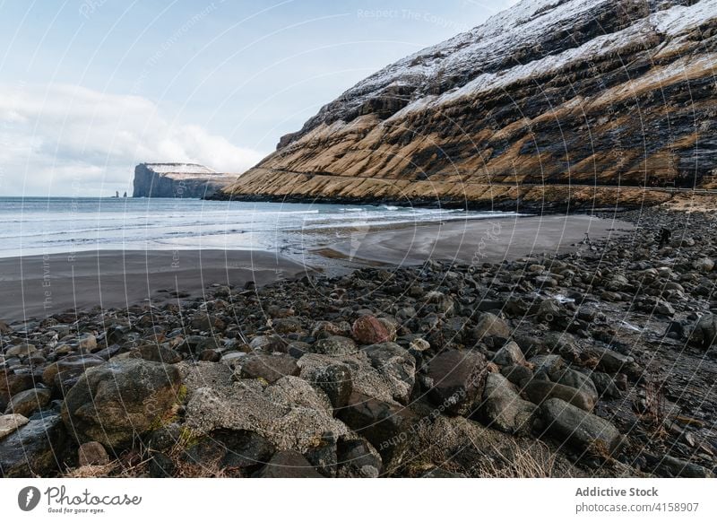
[(715, 64), (717, 0), (523, 0), (344, 92), (225, 192), (661, 200), (600, 187), (712, 182)]

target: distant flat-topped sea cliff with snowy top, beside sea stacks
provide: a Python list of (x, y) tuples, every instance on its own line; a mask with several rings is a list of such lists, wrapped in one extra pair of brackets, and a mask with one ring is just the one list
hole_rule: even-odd
[(140, 163), (134, 168), (133, 197), (204, 197), (227, 187), (236, 175), (196, 163)]

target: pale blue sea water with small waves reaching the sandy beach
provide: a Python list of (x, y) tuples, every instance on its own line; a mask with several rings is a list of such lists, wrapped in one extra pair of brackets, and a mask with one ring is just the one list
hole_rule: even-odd
[(0, 197), (0, 257), (95, 249), (263, 249), (288, 257), (375, 227), (515, 215), (391, 205)]

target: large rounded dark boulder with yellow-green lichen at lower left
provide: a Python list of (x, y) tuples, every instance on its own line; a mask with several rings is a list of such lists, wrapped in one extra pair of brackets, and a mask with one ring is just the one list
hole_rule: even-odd
[(177, 367), (142, 359), (109, 361), (85, 371), (67, 395), (62, 417), (78, 441), (126, 448), (177, 402)]

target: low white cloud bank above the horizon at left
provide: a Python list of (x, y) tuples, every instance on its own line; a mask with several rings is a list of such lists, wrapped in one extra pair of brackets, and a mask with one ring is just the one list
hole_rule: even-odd
[(240, 173), (262, 157), (203, 126), (168, 120), (140, 96), (0, 84), (0, 195), (108, 196), (131, 191), (142, 161)]

